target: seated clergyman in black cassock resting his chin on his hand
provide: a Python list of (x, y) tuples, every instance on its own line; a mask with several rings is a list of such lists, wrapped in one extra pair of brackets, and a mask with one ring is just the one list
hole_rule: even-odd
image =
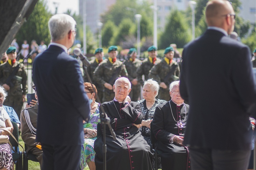
[[(153, 154), (139, 130), (143, 119), (141, 107), (139, 103), (132, 102), (128, 96), (131, 91), (131, 83), (127, 78), (121, 77), (115, 81), (113, 89), (114, 100), (102, 103), (117, 138), (117, 140), (113, 140), (109, 128), (106, 127), (106, 168), (152, 170)], [(100, 113), (102, 113), (101, 109)], [(97, 170), (103, 169), (102, 143), (101, 135), (94, 142)]]

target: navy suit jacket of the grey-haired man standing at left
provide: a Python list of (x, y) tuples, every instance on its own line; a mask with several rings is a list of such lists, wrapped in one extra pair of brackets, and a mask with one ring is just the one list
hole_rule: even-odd
[(89, 99), (76, 59), (51, 45), (33, 62), (38, 94), (37, 141), (51, 145), (81, 145), (83, 120), (90, 118)]

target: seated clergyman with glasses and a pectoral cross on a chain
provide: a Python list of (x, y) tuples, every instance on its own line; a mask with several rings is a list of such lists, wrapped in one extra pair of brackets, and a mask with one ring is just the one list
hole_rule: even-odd
[(183, 146), (189, 105), (180, 95), (180, 81), (170, 84), (171, 100), (156, 107), (151, 122), (157, 139), (157, 149), (161, 157), (162, 170), (187, 170), (190, 168), (188, 148)]

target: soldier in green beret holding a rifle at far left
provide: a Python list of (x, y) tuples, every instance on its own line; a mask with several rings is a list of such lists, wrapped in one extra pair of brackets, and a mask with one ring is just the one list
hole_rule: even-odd
[(20, 67), (12, 78), (11, 82), (6, 84), (9, 75), (19, 64), (16, 61), (16, 47), (9, 47), (6, 54), (9, 58), (8, 61), (0, 65), (0, 84), (8, 92), (4, 105), (13, 107), (20, 120), (20, 112), (22, 110), (23, 102), (25, 102), (25, 96), (27, 93), (27, 74), (24, 69), (24, 65), (20, 64)]

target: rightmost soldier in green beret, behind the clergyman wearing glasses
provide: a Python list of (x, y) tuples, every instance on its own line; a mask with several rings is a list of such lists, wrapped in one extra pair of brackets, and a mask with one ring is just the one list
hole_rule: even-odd
[(153, 66), (148, 76), (157, 81), (160, 85), (158, 98), (169, 101), (169, 85), (171, 82), (179, 80), (180, 68), (177, 62), (173, 60), (174, 49), (167, 47), (165, 49), (165, 57), (162, 61)]

